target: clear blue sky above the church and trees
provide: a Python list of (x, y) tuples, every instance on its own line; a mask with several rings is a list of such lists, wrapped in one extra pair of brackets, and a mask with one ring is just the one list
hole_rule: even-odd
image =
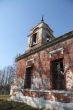
[(73, 0), (0, 0), (0, 69), (25, 52), (29, 31), (42, 15), (55, 37), (73, 30)]

